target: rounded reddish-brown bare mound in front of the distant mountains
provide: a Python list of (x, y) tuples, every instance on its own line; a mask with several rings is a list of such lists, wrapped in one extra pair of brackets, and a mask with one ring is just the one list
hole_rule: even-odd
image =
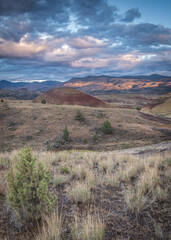
[(88, 107), (106, 107), (107, 104), (100, 99), (92, 97), (74, 88), (53, 88), (35, 99), (34, 102), (45, 100), (48, 104), (82, 105)]

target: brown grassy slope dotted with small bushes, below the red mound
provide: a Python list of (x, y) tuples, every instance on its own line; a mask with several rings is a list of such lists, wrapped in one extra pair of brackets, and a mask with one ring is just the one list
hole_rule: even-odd
[[(85, 116), (86, 120), (83, 123), (74, 120), (78, 109)], [(5, 100), (4, 103), (0, 103), (0, 112), (1, 151), (20, 148), (25, 144), (34, 149), (46, 149), (45, 142), (54, 143), (62, 136), (65, 126), (70, 132), (70, 148), (96, 150), (142, 146), (155, 143), (156, 139), (167, 140), (168, 136), (154, 130), (153, 127), (170, 129), (168, 122), (145, 119), (139, 111), (129, 108), (56, 106)], [(112, 135), (103, 135), (98, 130), (105, 120), (109, 120), (114, 127)], [(93, 142), (96, 131), (98, 141)], [(84, 138), (87, 138), (87, 143), (83, 143)]]

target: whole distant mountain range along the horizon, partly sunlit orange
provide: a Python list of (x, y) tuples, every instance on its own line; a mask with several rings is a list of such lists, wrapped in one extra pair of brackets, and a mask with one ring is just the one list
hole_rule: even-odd
[[(64, 83), (58, 81), (44, 82), (10, 82), (6, 80), (0, 81), (1, 90), (10, 90), (27, 94), (31, 99), (33, 96), (40, 95), (51, 88), (56, 87), (72, 87), (89, 94), (107, 94), (107, 93), (142, 93), (142, 94), (165, 94), (171, 92), (171, 77), (153, 74), (149, 76), (88, 76), (72, 78)], [(24, 90), (25, 89), (25, 90)], [(27, 91), (26, 91), (27, 90)], [(30, 93), (31, 91), (31, 93)], [(2, 97), (2, 92), (0, 97)], [(35, 94), (36, 92), (36, 94)], [(20, 97), (22, 96), (20, 94)], [(29, 97), (26, 97), (28, 99)], [(21, 97), (22, 98), (22, 97)]]

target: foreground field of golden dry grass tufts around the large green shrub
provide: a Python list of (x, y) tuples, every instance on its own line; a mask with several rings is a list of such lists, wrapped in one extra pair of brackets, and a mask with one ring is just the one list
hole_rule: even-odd
[(43, 222), (23, 224), (8, 210), (6, 173), (18, 153), (0, 154), (0, 239), (170, 239), (170, 152), (34, 152), (57, 196)]

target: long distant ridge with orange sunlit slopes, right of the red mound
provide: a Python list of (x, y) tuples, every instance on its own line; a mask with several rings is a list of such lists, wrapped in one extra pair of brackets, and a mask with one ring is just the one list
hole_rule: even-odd
[(88, 76), (72, 78), (61, 86), (74, 87), (91, 94), (142, 93), (165, 94), (171, 92), (171, 77), (153, 74), (150, 76)]

